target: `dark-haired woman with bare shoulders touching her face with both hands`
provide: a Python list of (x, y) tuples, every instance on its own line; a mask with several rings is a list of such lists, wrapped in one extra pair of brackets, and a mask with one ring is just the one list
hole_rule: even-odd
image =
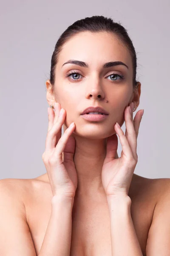
[(69, 26), (46, 88), (47, 173), (1, 180), (0, 255), (169, 255), (169, 179), (134, 174), (143, 110), (133, 120), (141, 83), (125, 28), (103, 16)]

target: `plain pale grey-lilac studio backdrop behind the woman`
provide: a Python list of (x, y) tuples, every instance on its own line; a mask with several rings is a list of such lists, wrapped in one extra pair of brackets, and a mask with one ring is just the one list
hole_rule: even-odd
[[(120, 21), (136, 49), (136, 80), (142, 84), (137, 111), (144, 109), (144, 115), (134, 173), (170, 178), (170, 1), (1, 0), (0, 179), (34, 178), (46, 172), (45, 81), (51, 56), (69, 25), (93, 15)], [(122, 129), (125, 132), (125, 123)], [(120, 156), (119, 137), (118, 142)]]

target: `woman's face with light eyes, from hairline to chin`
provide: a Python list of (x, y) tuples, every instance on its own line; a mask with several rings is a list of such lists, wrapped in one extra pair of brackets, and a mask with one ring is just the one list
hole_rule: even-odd
[[(64, 64), (69, 60), (84, 61), (88, 67)], [(103, 68), (111, 61), (122, 61), (128, 68)], [(66, 77), (71, 72), (77, 74)], [(83, 32), (69, 39), (59, 54), (54, 84), (56, 101), (66, 111), (64, 130), (74, 122), (74, 134), (82, 137), (103, 139), (116, 133), (114, 125), (118, 122), (122, 126), (125, 108), (133, 99), (132, 78), (130, 53), (116, 36)], [(109, 115), (99, 122), (85, 120), (81, 113), (90, 106), (102, 107)]]

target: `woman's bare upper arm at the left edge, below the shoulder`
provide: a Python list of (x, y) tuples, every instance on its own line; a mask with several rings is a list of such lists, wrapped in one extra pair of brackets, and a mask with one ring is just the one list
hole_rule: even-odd
[(14, 180), (0, 180), (0, 255), (36, 256), (22, 193), (16, 187)]

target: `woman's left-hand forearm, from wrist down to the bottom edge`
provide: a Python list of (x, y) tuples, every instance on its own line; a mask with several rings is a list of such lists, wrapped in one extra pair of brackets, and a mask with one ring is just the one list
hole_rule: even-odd
[(38, 256), (69, 256), (74, 198), (54, 196), (51, 216)]

